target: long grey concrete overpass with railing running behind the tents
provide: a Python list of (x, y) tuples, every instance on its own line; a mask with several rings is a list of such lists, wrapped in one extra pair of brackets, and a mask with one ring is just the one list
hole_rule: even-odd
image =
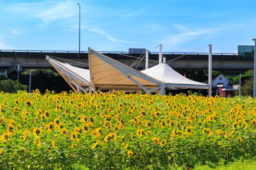
[[(104, 52), (101, 53), (121, 61), (126, 65), (131, 65), (136, 61), (136, 58), (140, 54), (128, 54), (128, 52)], [(186, 54), (186, 55), (185, 55)], [(17, 71), (18, 65), (20, 65), (20, 71), (22, 69), (29, 68), (52, 68), (52, 66), (45, 59), (45, 55), (58, 57), (61, 62), (67, 62), (77, 67), (86, 66), (71, 61), (80, 63), (88, 63), (87, 51), (30, 51), (30, 50), (0, 50), (0, 69), (6, 70), (7, 74)], [(179, 56), (185, 55), (174, 61), (170, 61)], [(174, 69), (208, 69), (208, 53), (178, 53), (178, 52), (163, 52), (163, 57), (166, 57), (166, 62)], [(62, 60), (63, 59), (63, 60)], [(66, 61), (66, 60), (71, 61)], [(149, 65), (154, 66), (158, 61), (158, 53), (150, 53)], [(234, 53), (213, 53), (212, 54), (212, 69), (220, 71), (227, 75), (237, 75), (243, 73), (249, 69), (253, 69), (253, 56), (237, 56)], [(137, 69), (145, 68), (145, 60), (138, 62), (133, 66)]]

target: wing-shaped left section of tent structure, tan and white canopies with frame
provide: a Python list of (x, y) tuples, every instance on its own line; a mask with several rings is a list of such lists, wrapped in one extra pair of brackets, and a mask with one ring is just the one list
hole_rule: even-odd
[(122, 90), (164, 93), (163, 82), (145, 75), (125, 64), (89, 48), (89, 70), (61, 63), (50, 56), (46, 59), (68, 82), (75, 92), (89, 93), (101, 90)]

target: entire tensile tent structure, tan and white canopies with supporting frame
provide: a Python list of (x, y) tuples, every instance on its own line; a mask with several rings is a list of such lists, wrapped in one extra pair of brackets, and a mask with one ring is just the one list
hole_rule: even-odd
[(88, 48), (88, 56), (89, 69), (74, 67), (50, 56), (46, 56), (46, 59), (77, 93), (101, 90), (138, 92), (142, 89), (145, 92), (165, 94), (167, 88), (209, 89), (208, 84), (192, 81), (166, 63), (159, 62), (140, 72), (91, 48)]

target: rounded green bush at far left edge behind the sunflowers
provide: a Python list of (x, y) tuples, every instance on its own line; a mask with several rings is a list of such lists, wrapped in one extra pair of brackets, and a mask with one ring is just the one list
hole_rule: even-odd
[(16, 81), (12, 81), (11, 79), (0, 81), (0, 91), (6, 93), (16, 93), (18, 90), (27, 91), (28, 86)]

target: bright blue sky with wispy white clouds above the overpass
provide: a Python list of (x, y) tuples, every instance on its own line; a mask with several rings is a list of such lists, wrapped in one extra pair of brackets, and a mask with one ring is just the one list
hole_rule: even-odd
[[(0, 49), (81, 50), (154, 48), (237, 52), (254, 45), (255, 0), (0, 0)], [(203, 48), (198, 52), (207, 52)]]

